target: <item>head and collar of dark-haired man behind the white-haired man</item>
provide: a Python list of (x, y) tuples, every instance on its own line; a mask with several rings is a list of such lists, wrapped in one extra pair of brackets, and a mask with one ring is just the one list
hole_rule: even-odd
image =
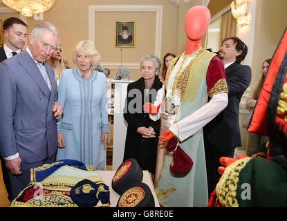
[(21, 52), (26, 44), (27, 25), (21, 19), (10, 17), (3, 23), (5, 44), (0, 48), (0, 62)]

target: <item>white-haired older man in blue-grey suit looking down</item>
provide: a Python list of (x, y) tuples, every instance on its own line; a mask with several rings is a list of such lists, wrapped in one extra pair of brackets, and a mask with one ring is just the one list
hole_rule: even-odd
[(0, 153), (6, 160), (12, 198), (30, 182), (30, 169), (55, 162), (57, 102), (53, 68), (44, 64), (59, 44), (52, 23), (37, 24), (24, 52), (0, 64)]

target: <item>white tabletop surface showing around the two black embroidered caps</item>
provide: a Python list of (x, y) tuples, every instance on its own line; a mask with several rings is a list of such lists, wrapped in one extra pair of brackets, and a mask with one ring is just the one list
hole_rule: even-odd
[[(120, 195), (118, 195), (118, 193), (115, 193), (115, 191), (113, 191), (113, 189), (111, 188), (111, 180), (113, 179), (115, 171), (98, 171), (98, 173), (100, 173), (102, 180), (104, 180), (104, 183), (109, 186), (111, 207), (115, 207), (117, 205), (118, 199), (120, 198)], [(160, 207), (160, 204), (158, 203), (158, 198), (156, 198), (156, 193), (154, 192), (154, 184), (151, 181), (149, 171), (143, 171), (142, 182), (147, 184), (147, 186), (149, 186), (149, 188), (151, 189), (151, 193), (152, 195), (154, 195), (155, 206)]]

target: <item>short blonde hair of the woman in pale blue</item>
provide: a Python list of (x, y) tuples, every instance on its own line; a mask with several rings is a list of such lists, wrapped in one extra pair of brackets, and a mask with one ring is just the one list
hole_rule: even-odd
[(100, 64), (100, 53), (95, 49), (93, 41), (80, 41), (73, 51), (73, 62), (77, 65), (77, 53), (83, 52), (92, 57), (92, 69), (95, 69)]

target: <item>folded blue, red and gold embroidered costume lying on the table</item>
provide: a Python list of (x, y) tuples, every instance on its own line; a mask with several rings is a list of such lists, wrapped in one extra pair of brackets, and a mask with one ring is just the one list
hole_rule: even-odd
[(77, 160), (62, 160), (31, 169), (30, 184), (11, 206), (110, 206), (109, 187), (93, 166), (85, 166)]

